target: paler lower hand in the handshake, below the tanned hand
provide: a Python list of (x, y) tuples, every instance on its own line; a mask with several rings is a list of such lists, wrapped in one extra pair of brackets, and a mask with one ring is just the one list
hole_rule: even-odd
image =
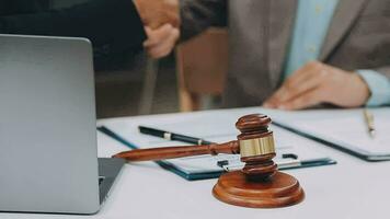
[(164, 24), (157, 30), (146, 26), (145, 31), (148, 39), (144, 42), (144, 47), (151, 58), (168, 56), (180, 37), (179, 28), (173, 27), (171, 24)]

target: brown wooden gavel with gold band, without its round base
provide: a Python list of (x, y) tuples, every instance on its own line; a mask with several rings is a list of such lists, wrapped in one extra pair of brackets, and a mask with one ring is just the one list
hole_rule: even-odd
[(183, 158), (200, 154), (216, 155), (218, 153), (241, 154), (241, 161), (245, 162), (243, 172), (249, 175), (267, 177), (275, 173), (277, 165), (272, 161), (275, 157), (273, 132), (268, 130), (271, 118), (262, 114), (246, 115), (236, 123), (241, 131), (238, 140), (226, 143), (206, 146), (179, 146), (151, 149), (136, 149), (121, 152), (114, 158), (136, 161), (157, 161), (173, 158)]

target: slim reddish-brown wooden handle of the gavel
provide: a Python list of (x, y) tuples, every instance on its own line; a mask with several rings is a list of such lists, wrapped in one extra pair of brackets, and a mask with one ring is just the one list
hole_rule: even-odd
[(113, 155), (113, 158), (122, 158), (127, 161), (158, 161), (173, 158), (184, 158), (192, 155), (229, 153), (236, 154), (240, 152), (238, 141), (230, 141), (221, 145), (207, 146), (179, 146), (165, 148), (135, 149)]

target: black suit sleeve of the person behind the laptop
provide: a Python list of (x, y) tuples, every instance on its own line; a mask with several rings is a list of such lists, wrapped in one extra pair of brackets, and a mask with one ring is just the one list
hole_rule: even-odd
[(0, 16), (0, 33), (87, 37), (103, 55), (141, 48), (146, 39), (131, 0), (93, 0), (62, 10)]

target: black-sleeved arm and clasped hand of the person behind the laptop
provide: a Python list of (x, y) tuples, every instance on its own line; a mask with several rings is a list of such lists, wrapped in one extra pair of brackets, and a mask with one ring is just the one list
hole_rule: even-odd
[(91, 0), (60, 10), (48, 5), (47, 0), (0, 0), (0, 33), (87, 37), (101, 57), (139, 50), (148, 31), (159, 27), (154, 34), (171, 36), (180, 24), (177, 0)]

